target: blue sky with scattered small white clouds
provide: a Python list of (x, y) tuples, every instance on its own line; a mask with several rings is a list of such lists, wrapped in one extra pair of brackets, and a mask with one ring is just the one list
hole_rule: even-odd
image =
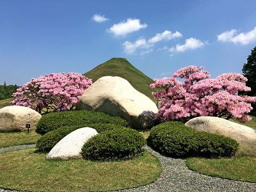
[(256, 46), (255, 0), (0, 1), (0, 84), (85, 73), (126, 58), (148, 77), (188, 65), (242, 73)]

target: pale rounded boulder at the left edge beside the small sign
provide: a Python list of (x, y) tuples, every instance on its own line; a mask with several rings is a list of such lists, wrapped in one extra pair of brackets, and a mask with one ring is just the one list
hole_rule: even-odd
[(31, 108), (7, 106), (0, 109), (0, 132), (27, 131), (26, 124), (35, 130), (42, 115)]

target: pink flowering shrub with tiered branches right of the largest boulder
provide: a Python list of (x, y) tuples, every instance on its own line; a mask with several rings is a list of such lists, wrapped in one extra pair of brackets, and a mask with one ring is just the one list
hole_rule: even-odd
[[(152, 92), (154, 99), (162, 100), (156, 118), (161, 122), (170, 120), (187, 120), (196, 116), (234, 116), (241, 122), (252, 120), (245, 115), (252, 110), (251, 104), (256, 97), (237, 95), (239, 91), (250, 91), (246, 86), (246, 77), (242, 74), (221, 74), (210, 79), (204, 67), (188, 66), (180, 68), (172, 77), (154, 79), (152, 89), (163, 88)], [(177, 77), (185, 79), (184, 82)]]

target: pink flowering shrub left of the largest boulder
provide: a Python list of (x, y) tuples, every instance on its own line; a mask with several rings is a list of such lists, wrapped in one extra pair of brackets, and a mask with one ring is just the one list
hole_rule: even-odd
[(91, 84), (92, 79), (75, 72), (40, 76), (13, 93), (12, 105), (35, 109), (38, 113), (70, 110)]

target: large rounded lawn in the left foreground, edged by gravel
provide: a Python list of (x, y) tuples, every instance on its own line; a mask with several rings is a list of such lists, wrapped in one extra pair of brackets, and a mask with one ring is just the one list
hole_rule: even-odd
[(28, 191), (108, 191), (153, 182), (162, 169), (159, 160), (143, 156), (121, 162), (83, 159), (54, 161), (35, 148), (0, 154), (0, 186)]

